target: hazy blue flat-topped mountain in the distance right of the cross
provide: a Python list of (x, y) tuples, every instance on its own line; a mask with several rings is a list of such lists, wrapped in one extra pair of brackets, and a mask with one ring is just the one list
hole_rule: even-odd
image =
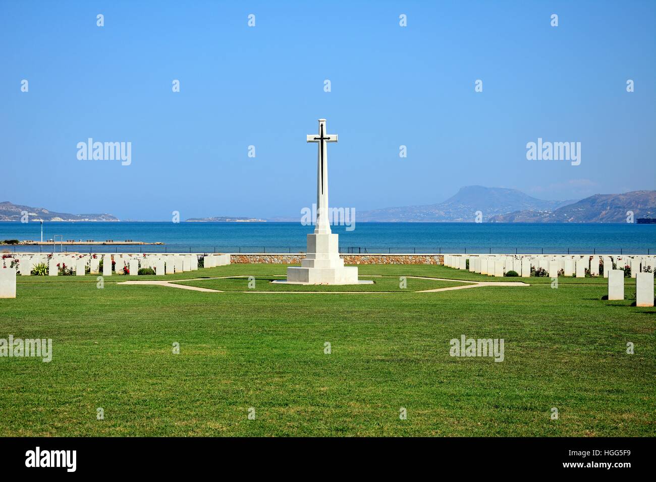
[(483, 220), (512, 211), (550, 211), (576, 201), (545, 201), (522, 191), (466, 186), (442, 203), (390, 207), (357, 213), (358, 222), (473, 222), (476, 211)]

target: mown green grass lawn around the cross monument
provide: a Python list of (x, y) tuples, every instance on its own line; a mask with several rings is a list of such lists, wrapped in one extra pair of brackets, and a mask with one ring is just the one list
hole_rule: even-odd
[[(398, 276), (531, 286), (418, 293), (408, 279), (375, 296), (272, 296), (117, 285), (286, 268), (114, 275), (104, 289), (96, 275), (18, 277), (18, 298), (0, 300), (0, 338), (52, 338), (54, 353), (0, 357), (0, 435), (656, 435), (656, 309), (602, 300), (603, 278), (552, 289), (550, 278), (367, 265), (363, 277), (397, 287)], [(461, 334), (503, 338), (504, 361), (449, 356)]]

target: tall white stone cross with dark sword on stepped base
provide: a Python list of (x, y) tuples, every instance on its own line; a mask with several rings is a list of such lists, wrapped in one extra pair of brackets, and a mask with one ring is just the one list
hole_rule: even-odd
[[(356, 285), (373, 281), (358, 281), (358, 268), (344, 266), (339, 256), (338, 235), (330, 229), (328, 218), (328, 143), (337, 142), (337, 134), (326, 133), (326, 119), (319, 119), (319, 133), (309, 134), (308, 142), (317, 146), (317, 220), (314, 233), (308, 234), (308, 252), (300, 268), (287, 268), (287, 281), (305, 285)], [(275, 281), (274, 281), (275, 283)]]

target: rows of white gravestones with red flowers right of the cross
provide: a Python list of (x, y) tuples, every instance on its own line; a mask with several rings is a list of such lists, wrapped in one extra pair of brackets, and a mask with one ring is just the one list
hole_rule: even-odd
[[(531, 275), (533, 270), (542, 269), (550, 277), (556, 277), (562, 271), (564, 276), (583, 278), (586, 271), (590, 276), (599, 276), (603, 267), (613, 269), (628, 266), (631, 277), (643, 271), (654, 271), (656, 256), (598, 256), (598, 255), (444, 255), (444, 266), (459, 270), (467, 269), (474, 273), (490, 276), (503, 276), (508, 271), (516, 271), (522, 277)], [(604, 270), (604, 277), (608, 277), (609, 270)]]

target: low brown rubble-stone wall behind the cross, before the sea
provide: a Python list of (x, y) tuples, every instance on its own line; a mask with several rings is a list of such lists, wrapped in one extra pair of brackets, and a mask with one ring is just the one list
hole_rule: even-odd
[[(442, 254), (340, 254), (344, 264), (443, 264)], [(230, 254), (230, 262), (300, 264), (305, 254)]]

